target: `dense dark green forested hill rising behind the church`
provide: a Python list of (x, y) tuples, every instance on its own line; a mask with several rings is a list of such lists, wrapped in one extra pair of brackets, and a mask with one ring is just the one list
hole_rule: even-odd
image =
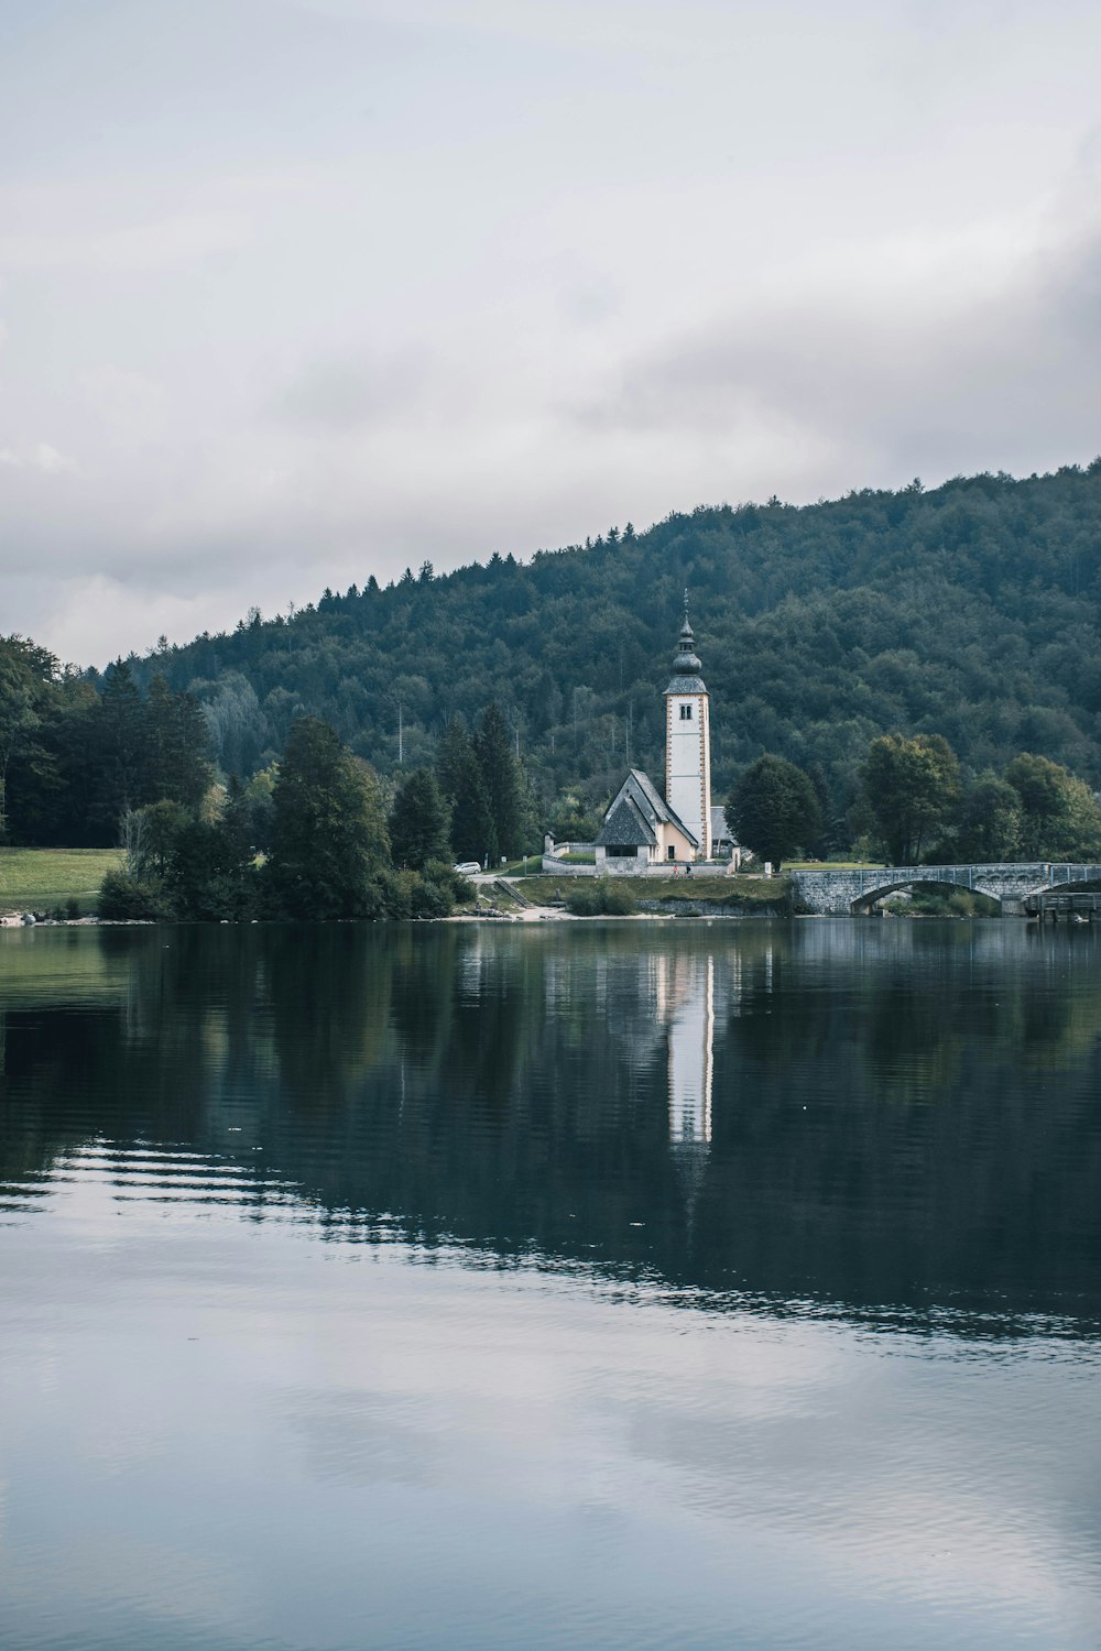
[(1015, 480), (698, 509), (527, 563), (325, 593), (292, 617), (132, 660), (206, 707), (248, 774), (300, 712), (381, 771), (431, 756), (447, 717), (497, 700), (545, 796), (598, 799), (627, 758), (660, 773), (662, 690), (690, 589), (711, 692), (716, 794), (774, 751), (839, 801), (868, 740), (944, 735), (972, 769), (1018, 751), (1101, 783), (1101, 459)]

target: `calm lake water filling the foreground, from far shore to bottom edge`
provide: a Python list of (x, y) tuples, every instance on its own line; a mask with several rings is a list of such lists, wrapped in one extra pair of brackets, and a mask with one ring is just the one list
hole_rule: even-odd
[(0, 934), (0, 1644), (1096, 1648), (1101, 926)]

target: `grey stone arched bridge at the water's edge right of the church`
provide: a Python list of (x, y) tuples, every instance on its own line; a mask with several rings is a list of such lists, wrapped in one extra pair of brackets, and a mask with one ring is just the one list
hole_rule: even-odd
[(1022, 916), (1030, 895), (1101, 883), (1101, 865), (888, 865), (877, 870), (792, 872), (796, 903), (819, 916), (870, 910), (883, 895), (914, 883), (947, 883), (997, 900), (1007, 916)]

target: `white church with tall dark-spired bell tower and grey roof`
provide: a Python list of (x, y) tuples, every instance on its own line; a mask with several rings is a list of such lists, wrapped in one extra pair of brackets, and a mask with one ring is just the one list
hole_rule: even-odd
[[(596, 839), (596, 872), (639, 875), (659, 865), (692, 865), (731, 850), (723, 809), (711, 807), (710, 697), (688, 622), (680, 627), (665, 688), (665, 796), (632, 768), (612, 797)], [(738, 850), (733, 849), (733, 863)]]

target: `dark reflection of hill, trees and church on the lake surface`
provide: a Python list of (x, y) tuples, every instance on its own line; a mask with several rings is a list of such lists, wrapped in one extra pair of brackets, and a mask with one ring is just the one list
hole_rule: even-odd
[(1099, 953), (1010, 923), (15, 934), (0, 1176), (13, 1213), (59, 1154), (155, 1144), (332, 1237), (1094, 1324)]

